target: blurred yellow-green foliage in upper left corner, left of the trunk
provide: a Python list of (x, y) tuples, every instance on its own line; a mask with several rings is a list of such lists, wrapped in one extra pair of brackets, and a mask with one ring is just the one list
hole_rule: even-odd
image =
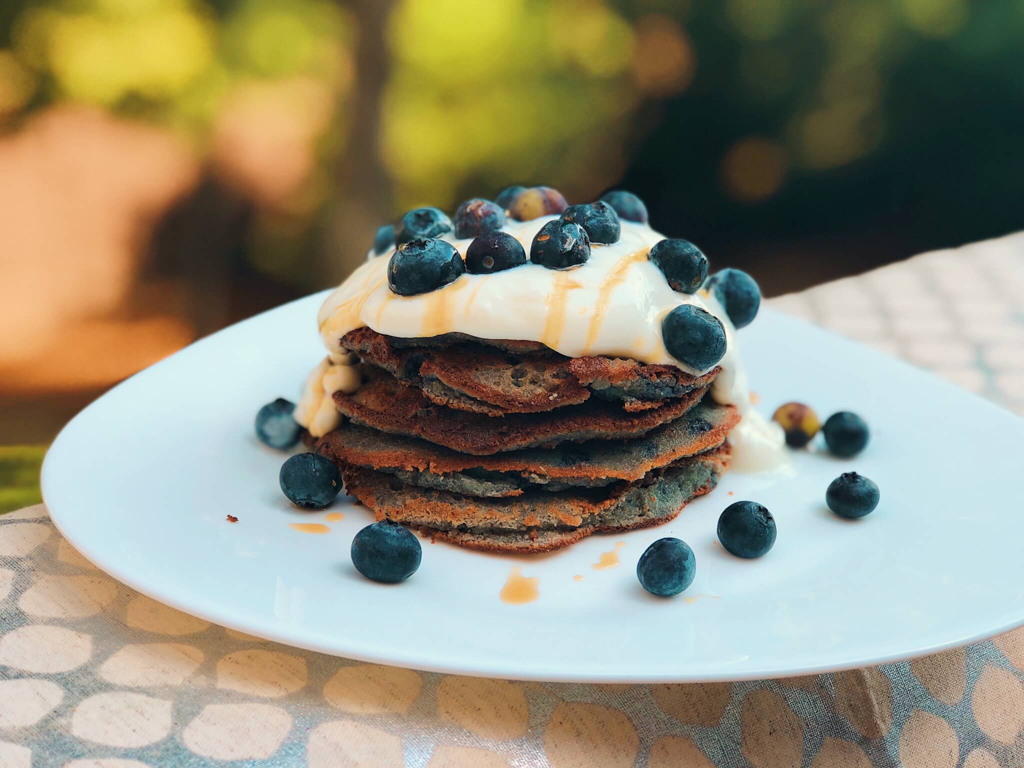
[(198, 135), (232, 85), (330, 81), (352, 39), (330, 0), (12, 0), (0, 24), (38, 84), (26, 106), (85, 102)]

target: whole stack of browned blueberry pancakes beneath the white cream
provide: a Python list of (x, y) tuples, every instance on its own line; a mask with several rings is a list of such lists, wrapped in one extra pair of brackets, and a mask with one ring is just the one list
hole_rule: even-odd
[(626, 358), (458, 334), (369, 328), (341, 349), (362, 384), (316, 442), (350, 495), (385, 517), (474, 549), (540, 552), (665, 522), (715, 487), (739, 421), (692, 376)]

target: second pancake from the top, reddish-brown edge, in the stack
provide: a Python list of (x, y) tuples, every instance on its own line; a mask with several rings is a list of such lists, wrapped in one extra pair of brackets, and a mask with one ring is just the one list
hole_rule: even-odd
[(366, 367), (366, 380), (352, 394), (336, 392), (338, 410), (356, 424), (390, 434), (422, 437), (464, 454), (488, 456), (504, 451), (552, 446), (566, 441), (639, 437), (675, 421), (703, 396), (707, 388), (631, 414), (593, 398), (552, 413), (509, 414), (492, 418), (435, 406), (418, 388)]

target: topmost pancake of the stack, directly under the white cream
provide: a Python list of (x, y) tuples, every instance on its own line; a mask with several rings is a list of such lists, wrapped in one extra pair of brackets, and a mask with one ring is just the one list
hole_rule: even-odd
[[(618, 401), (627, 411), (649, 410), (666, 398), (684, 397), (714, 381), (719, 369), (692, 376), (674, 366), (632, 359), (568, 358), (548, 350), (512, 351), (513, 342), (451, 339), (446, 346), (425, 339), (395, 339), (369, 328), (351, 331), (343, 348), (446, 408), (498, 416), (539, 413), (580, 404), (591, 391)], [(496, 347), (494, 344), (502, 344)]]

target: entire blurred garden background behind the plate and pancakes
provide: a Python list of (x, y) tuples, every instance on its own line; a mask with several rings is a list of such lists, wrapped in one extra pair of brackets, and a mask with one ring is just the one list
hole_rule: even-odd
[(1019, 0), (5, 0), (0, 443), (509, 183), (768, 294), (1020, 228), (1022, 43)]

